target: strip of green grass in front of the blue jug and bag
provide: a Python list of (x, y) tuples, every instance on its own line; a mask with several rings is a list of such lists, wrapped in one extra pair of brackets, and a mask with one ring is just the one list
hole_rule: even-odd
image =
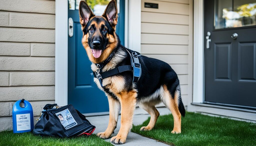
[[(112, 145), (110, 142), (100, 139), (96, 135), (91, 136), (79, 136), (74, 138), (55, 138), (55, 137), (40, 137), (30, 132), (26, 133), (13, 133), (13, 131), (0, 132), (0, 145), (46, 145), (46, 146), (58, 146), (58, 145)], [(112, 145), (113, 146), (113, 145)]]

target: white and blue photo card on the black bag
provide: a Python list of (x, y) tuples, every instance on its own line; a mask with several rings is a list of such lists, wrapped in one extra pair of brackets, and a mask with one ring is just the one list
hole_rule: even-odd
[(62, 110), (59, 113), (56, 113), (56, 115), (65, 129), (69, 129), (77, 125), (76, 120), (73, 118), (68, 109)]

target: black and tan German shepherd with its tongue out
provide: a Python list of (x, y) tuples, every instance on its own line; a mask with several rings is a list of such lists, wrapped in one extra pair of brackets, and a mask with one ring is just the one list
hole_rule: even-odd
[[(121, 65), (131, 65), (130, 55), (120, 44), (115, 32), (118, 21), (115, 0), (109, 2), (102, 16), (95, 16), (87, 3), (81, 1), (79, 16), (83, 31), (82, 44), (92, 62), (93, 72), (97, 70), (95, 63), (102, 63), (112, 52), (114, 55), (110, 62), (101, 69), (102, 72)], [(121, 107), (121, 127), (118, 134), (110, 140), (114, 144), (125, 143), (127, 134), (132, 128), (136, 103), (151, 116), (150, 122), (147, 126), (141, 127), (141, 131), (151, 130), (155, 126), (159, 116), (155, 105), (163, 102), (174, 118), (174, 128), (171, 133), (181, 132), (181, 115), (185, 116), (185, 109), (180, 96), (177, 74), (170, 65), (163, 61), (143, 55), (138, 58), (142, 74), (136, 84), (132, 82), (132, 71), (104, 78), (102, 84), (105, 88), (102, 88), (99, 80), (94, 78), (94, 82), (105, 92), (109, 102), (109, 124), (104, 132), (97, 133), (100, 138), (107, 139), (111, 136), (116, 128)]]

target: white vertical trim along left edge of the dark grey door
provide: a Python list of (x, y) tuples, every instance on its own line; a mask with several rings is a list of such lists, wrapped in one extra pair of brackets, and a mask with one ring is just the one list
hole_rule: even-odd
[(204, 0), (194, 1), (193, 103), (204, 102)]

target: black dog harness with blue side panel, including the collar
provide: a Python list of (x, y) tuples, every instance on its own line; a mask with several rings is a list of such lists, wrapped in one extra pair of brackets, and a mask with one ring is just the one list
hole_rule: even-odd
[(109, 61), (112, 59), (112, 57), (114, 55), (114, 52), (112, 52), (110, 54), (110, 56), (108, 57), (108, 59), (106, 59), (102, 63), (100, 63), (100, 64), (95, 63), (95, 65), (97, 66), (97, 70), (96, 70), (96, 72), (93, 72), (93, 75), (94, 75), (94, 77), (99, 79), (100, 85), (102, 88), (105, 88), (105, 86), (102, 85), (102, 79), (119, 74), (124, 71), (132, 71), (133, 72), (133, 80), (132, 80), (133, 83), (137, 83), (139, 81), (139, 79), (141, 77), (141, 64), (140, 64), (138, 57), (141, 54), (136, 51), (133, 51), (132, 53), (130, 53), (127, 49), (126, 49), (126, 51), (130, 55), (131, 65), (122, 65), (122, 66), (118, 66), (117, 68), (114, 68), (112, 70), (102, 72), (101, 69), (107, 63), (109, 63)]

